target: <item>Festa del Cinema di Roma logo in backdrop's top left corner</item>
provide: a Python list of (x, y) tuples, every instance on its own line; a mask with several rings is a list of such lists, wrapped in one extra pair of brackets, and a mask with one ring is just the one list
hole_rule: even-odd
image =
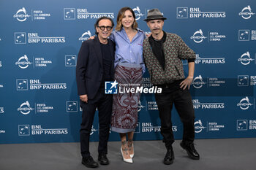
[(26, 12), (25, 7), (18, 9), (13, 18), (16, 18), (20, 22), (24, 22), (27, 18), (31, 17), (31, 20), (45, 20), (46, 18), (50, 17), (50, 13), (45, 13), (42, 10), (31, 10), (31, 15), (28, 15)]

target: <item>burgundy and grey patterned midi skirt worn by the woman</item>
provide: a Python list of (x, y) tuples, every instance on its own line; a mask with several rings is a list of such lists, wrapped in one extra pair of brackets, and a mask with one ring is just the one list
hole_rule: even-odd
[(111, 131), (127, 133), (135, 131), (138, 123), (140, 93), (132, 93), (132, 88), (140, 88), (142, 68), (138, 64), (118, 63), (115, 71), (118, 93), (113, 95)]

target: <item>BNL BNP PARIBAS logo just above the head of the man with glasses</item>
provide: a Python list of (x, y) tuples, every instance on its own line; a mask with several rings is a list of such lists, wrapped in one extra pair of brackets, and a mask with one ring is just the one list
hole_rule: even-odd
[(64, 8), (64, 20), (86, 20), (86, 19), (99, 19), (101, 17), (108, 17), (113, 19), (113, 12), (89, 12), (86, 8)]

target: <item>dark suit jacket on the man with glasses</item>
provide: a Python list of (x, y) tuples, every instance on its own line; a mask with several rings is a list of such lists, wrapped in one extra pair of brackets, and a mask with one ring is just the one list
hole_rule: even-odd
[[(103, 60), (102, 50), (100, 49), (99, 39), (96, 36), (94, 39), (89, 39), (82, 43), (78, 53), (78, 63), (76, 66), (76, 80), (78, 85), (78, 96), (87, 94), (89, 99), (94, 98), (99, 90), (99, 85), (102, 82), (103, 76)], [(113, 80), (114, 74), (114, 43), (108, 39), (110, 45), (110, 54), (112, 65), (110, 76)]]

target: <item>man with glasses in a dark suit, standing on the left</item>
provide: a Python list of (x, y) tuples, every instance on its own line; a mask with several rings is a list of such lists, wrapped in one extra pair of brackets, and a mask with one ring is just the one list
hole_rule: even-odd
[(89, 152), (89, 138), (96, 109), (99, 111), (99, 147), (98, 161), (108, 165), (108, 136), (112, 112), (112, 95), (105, 94), (105, 81), (113, 80), (114, 73), (114, 43), (108, 39), (113, 31), (113, 20), (102, 17), (94, 27), (97, 36), (83, 42), (78, 54), (76, 80), (80, 106), (83, 109), (80, 128), (80, 149), (82, 163), (86, 167), (96, 168)]

